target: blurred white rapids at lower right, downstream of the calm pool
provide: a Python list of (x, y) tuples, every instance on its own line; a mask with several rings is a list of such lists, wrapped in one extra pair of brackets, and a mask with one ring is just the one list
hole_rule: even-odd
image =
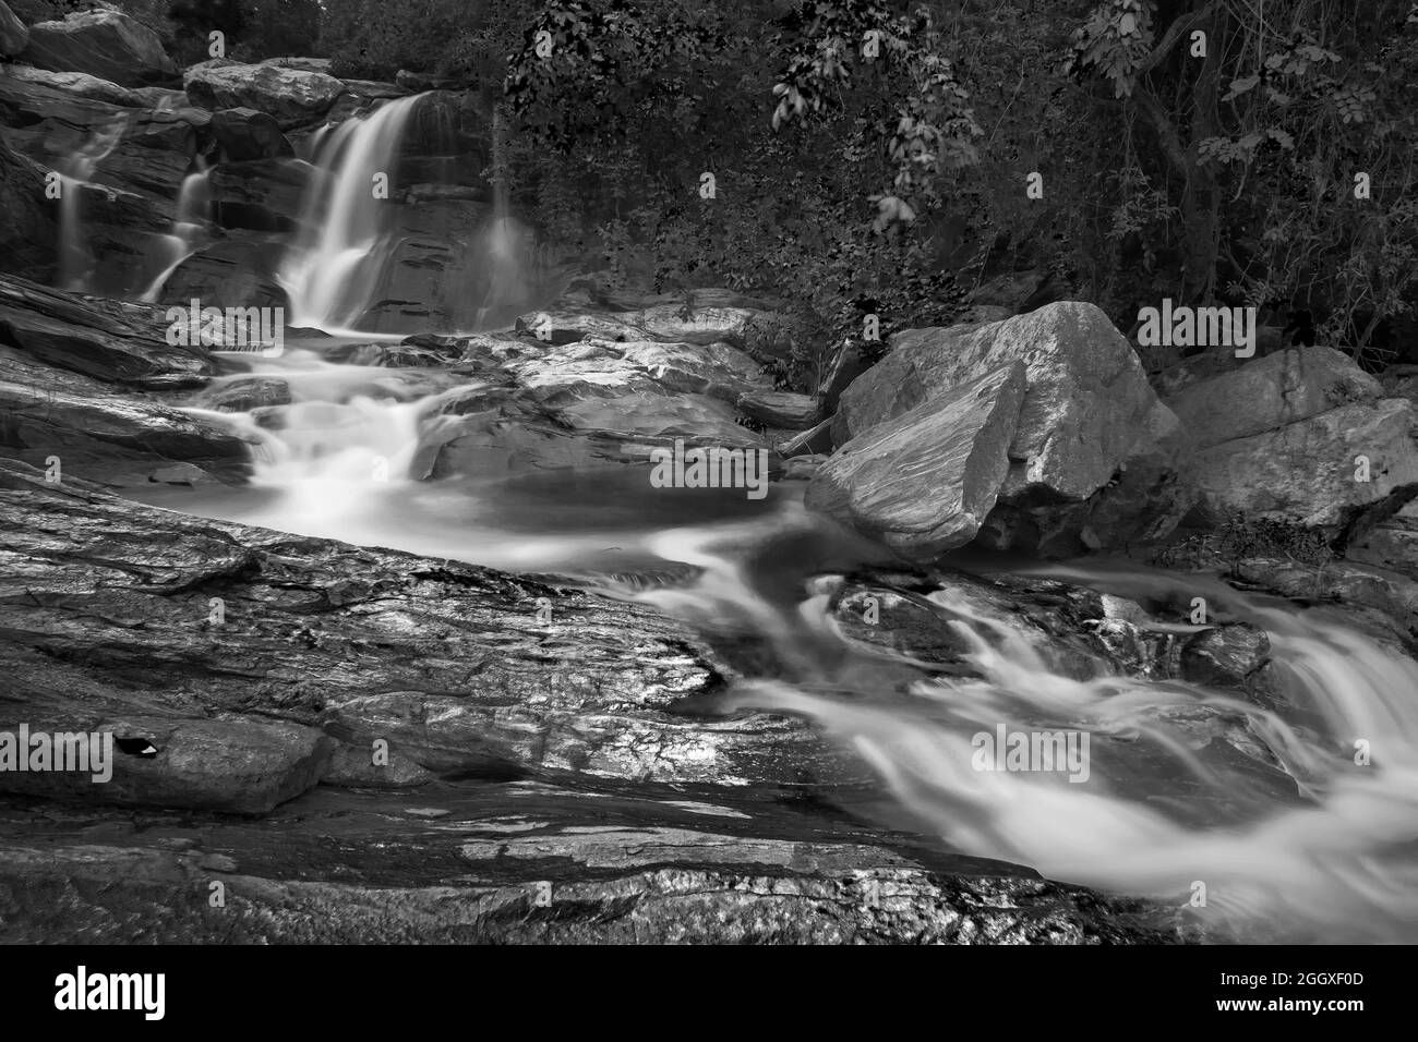
[[(1418, 662), (1398, 649), (1323, 611), (1214, 580), (1054, 568), (1029, 574), (1139, 598), (1187, 603), (1201, 593), (1261, 627), (1280, 678), (1278, 707), (1181, 680), (1072, 679), (1045, 659), (1038, 634), (949, 588), (930, 600), (956, 617), (976, 675), (888, 693), (869, 678), (899, 656), (856, 644), (844, 659), (827, 597), (808, 598), (797, 614), (773, 607), (726, 544), (725, 532), (662, 534), (662, 556), (692, 560), (705, 574), (692, 588), (640, 600), (709, 627), (752, 618), (788, 676), (743, 685), (735, 705), (815, 720), (872, 766), (913, 825), (951, 848), (1178, 907), (1201, 883), (1212, 921), (1261, 937), (1418, 937)], [(834, 639), (839, 654), (824, 655), (820, 645)], [(1200, 756), (1187, 724), (1225, 715), (1245, 720), (1259, 760), (1295, 780), (1293, 798), (1258, 785), (1246, 763)], [(1065, 773), (980, 770), (977, 736), (1001, 726), (1090, 733), (1083, 784)], [(1371, 763), (1356, 761), (1356, 743), (1371, 744)]]

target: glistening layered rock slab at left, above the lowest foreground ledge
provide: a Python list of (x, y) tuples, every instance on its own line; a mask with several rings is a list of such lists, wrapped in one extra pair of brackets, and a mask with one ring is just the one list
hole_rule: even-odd
[(13, 461), (0, 546), (0, 671), (18, 722), (316, 727), (343, 753), (330, 770), (372, 785), (420, 771), (864, 777), (805, 723), (676, 712), (732, 671), (638, 605), (147, 508)]

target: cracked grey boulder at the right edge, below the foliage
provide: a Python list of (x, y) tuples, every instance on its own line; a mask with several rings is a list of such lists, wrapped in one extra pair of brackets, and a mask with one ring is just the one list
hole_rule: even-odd
[(1299, 347), (1191, 384), (1171, 407), (1183, 466), (1215, 515), (1337, 532), (1418, 483), (1418, 413), (1330, 347)]

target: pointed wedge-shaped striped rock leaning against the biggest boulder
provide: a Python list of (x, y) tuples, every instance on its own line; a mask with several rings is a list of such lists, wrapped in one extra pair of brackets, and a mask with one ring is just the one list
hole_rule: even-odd
[(813, 475), (805, 502), (906, 557), (964, 546), (994, 508), (1025, 394), (1015, 360), (868, 427)]

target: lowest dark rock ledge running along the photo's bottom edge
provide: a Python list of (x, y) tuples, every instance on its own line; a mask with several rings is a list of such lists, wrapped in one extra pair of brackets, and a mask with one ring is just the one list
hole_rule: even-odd
[[(0, 802), (0, 941), (1176, 943), (1184, 913), (655, 787), (316, 790), (259, 822)], [(437, 814), (434, 814), (437, 811)], [(225, 906), (208, 903), (221, 882)]]

